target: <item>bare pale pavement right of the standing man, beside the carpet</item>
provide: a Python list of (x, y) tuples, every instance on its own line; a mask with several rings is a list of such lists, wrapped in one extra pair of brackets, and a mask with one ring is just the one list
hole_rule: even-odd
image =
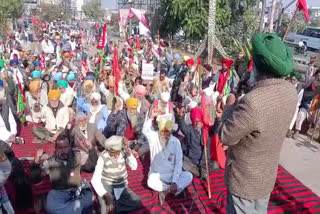
[(310, 143), (305, 135), (295, 139), (286, 138), (283, 143), (280, 164), (300, 182), (320, 196), (320, 143)]

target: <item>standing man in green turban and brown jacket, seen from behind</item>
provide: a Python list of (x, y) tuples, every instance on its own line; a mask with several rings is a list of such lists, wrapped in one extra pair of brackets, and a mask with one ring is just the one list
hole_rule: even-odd
[(252, 45), (256, 86), (228, 118), (221, 119), (221, 107), (216, 110), (214, 128), (228, 146), (227, 213), (267, 213), (281, 145), (297, 104), (294, 86), (282, 78), (293, 70), (289, 49), (275, 34), (258, 34)]

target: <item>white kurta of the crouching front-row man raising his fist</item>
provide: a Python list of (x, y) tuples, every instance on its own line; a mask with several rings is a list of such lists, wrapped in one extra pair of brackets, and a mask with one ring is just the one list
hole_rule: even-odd
[(143, 134), (147, 137), (150, 147), (150, 171), (148, 186), (156, 191), (165, 191), (171, 183), (176, 183), (178, 192), (183, 191), (192, 181), (190, 172), (182, 171), (182, 149), (180, 141), (171, 136), (166, 146), (162, 146), (158, 132), (151, 129), (152, 120), (144, 123)]

